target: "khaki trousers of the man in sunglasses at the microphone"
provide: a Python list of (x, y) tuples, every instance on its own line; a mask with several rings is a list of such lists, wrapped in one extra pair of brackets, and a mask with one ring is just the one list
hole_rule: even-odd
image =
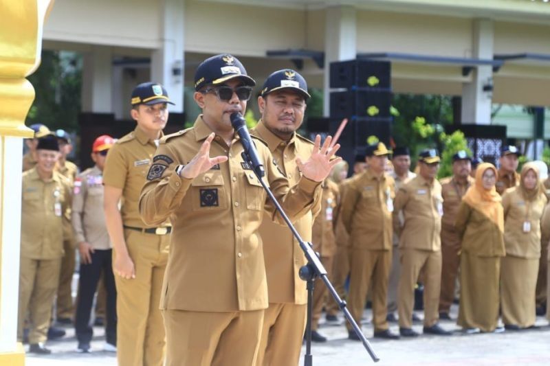
[(163, 310), (166, 366), (254, 365), (263, 311)]

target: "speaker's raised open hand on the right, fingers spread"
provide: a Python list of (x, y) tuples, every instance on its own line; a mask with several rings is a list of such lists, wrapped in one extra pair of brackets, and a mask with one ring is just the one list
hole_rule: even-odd
[(331, 147), (331, 141), (332, 137), (327, 137), (321, 147), (321, 137), (317, 135), (315, 137), (314, 152), (311, 154), (311, 157), (305, 162), (302, 162), (299, 157), (296, 158), (298, 168), (307, 179), (316, 182), (324, 181), (329, 176), (332, 167), (342, 161), (341, 157), (331, 160), (331, 157), (340, 148), (340, 144)]

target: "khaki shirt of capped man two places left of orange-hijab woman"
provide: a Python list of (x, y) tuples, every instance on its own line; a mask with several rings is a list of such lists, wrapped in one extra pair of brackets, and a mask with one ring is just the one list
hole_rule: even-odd
[[(430, 184), (417, 176), (399, 188), (394, 201), (393, 227), (399, 233), (399, 249), (441, 250), (443, 197), (437, 179)], [(405, 223), (399, 225), (399, 211)]]

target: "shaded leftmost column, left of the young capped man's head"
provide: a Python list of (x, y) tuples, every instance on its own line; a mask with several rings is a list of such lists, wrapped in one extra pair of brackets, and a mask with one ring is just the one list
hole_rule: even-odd
[(83, 112), (113, 113), (111, 47), (94, 46), (83, 59)]

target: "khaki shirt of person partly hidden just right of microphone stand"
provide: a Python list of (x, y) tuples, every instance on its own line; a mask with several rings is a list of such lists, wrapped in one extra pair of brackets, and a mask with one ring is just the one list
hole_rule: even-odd
[(322, 185), (321, 211), (314, 220), (311, 238), (314, 251), (320, 253), (321, 257), (332, 257), (336, 254), (334, 229), (339, 203), (338, 185), (327, 179)]

